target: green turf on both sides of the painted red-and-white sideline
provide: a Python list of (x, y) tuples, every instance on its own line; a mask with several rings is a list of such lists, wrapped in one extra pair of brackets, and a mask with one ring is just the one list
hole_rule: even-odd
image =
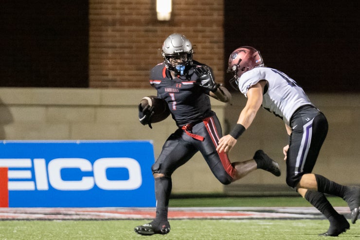
[[(329, 198), (334, 206), (346, 206)], [(309, 206), (302, 198), (171, 199), (181, 206)], [(1, 240), (312, 240), (328, 228), (327, 220), (171, 220), (167, 235), (140, 236), (133, 228), (148, 220), (1, 221)], [(359, 240), (360, 224), (337, 239)]]

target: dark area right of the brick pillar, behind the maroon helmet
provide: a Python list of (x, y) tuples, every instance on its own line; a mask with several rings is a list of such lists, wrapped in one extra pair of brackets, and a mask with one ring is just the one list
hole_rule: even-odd
[(248, 45), (306, 92), (360, 92), (358, 1), (262, 2), (225, 1), (227, 59)]

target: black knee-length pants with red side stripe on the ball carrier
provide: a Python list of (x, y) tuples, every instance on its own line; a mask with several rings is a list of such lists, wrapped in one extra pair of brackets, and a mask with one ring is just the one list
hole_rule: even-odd
[[(196, 134), (204, 139), (197, 140), (188, 133)], [(179, 166), (185, 164), (200, 151), (215, 177), (222, 184), (230, 184), (234, 179), (235, 169), (227, 154), (219, 154), (216, 151), (217, 143), (222, 137), (221, 125), (216, 115), (191, 126), (188, 133), (183, 129), (178, 129), (170, 135), (162, 147), (159, 158), (152, 166), (153, 173), (162, 173), (170, 177)], [(201, 169), (198, 171), (200, 172)]]

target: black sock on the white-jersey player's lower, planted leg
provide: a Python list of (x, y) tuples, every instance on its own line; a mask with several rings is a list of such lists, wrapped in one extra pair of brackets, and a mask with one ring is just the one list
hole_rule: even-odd
[(307, 202), (316, 207), (324, 216), (332, 222), (333, 219), (339, 217), (339, 213), (333, 208), (333, 206), (327, 201), (324, 193), (314, 190), (307, 190), (305, 194)]

